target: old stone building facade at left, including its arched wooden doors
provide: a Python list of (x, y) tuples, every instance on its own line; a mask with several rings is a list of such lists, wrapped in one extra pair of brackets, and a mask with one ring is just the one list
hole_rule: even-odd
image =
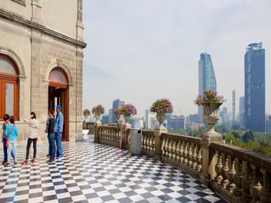
[(63, 140), (75, 141), (82, 130), (82, 7), (82, 0), (0, 1), (0, 118), (14, 115), (19, 141), (28, 137), (23, 120), (31, 111), (46, 140), (56, 105), (63, 106)]

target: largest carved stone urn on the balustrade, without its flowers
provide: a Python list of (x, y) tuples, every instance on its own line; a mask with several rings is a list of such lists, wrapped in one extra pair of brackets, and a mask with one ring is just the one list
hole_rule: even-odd
[(222, 103), (203, 103), (203, 118), (205, 122), (208, 124), (208, 134), (218, 134), (215, 132), (215, 123), (219, 120), (218, 110)]

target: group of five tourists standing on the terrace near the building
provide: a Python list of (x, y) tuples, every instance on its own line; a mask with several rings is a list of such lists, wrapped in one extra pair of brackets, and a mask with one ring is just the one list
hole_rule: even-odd
[[(46, 131), (48, 133), (48, 144), (49, 152), (48, 162), (53, 162), (55, 157), (63, 158), (63, 147), (62, 147), (62, 132), (63, 132), (63, 114), (61, 113), (61, 105), (56, 106), (56, 116), (54, 110), (50, 110), (48, 113), (48, 118), (46, 120)], [(17, 125), (15, 125), (15, 119), (13, 116), (8, 114), (4, 115), (4, 123), (2, 125), (3, 130), (3, 150), (4, 150), (4, 160), (2, 165), (9, 166), (11, 157), (14, 158), (14, 165), (17, 164), (17, 147), (16, 140), (19, 136), (19, 130)], [(36, 143), (39, 139), (39, 120), (36, 119), (36, 113), (31, 112), (30, 118), (24, 120), (24, 122), (29, 124), (29, 138), (26, 145), (26, 159), (23, 165), (29, 165), (29, 150), (31, 143), (33, 142), (33, 158), (31, 163), (36, 160)], [(56, 145), (55, 145), (56, 143)]]

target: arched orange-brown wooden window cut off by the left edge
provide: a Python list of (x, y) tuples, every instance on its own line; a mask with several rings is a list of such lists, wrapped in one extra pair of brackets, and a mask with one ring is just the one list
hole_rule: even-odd
[(16, 63), (9, 56), (0, 54), (0, 120), (6, 113), (19, 120), (18, 90)]

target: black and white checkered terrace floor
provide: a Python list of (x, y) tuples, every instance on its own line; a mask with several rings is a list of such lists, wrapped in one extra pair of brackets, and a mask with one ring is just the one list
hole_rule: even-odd
[[(196, 179), (146, 156), (88, 142), (63, 143), (63, 160), (0, 167), (0, 202), (225, 202)], [(2, 156), (1, 156), (2, 157)]]

